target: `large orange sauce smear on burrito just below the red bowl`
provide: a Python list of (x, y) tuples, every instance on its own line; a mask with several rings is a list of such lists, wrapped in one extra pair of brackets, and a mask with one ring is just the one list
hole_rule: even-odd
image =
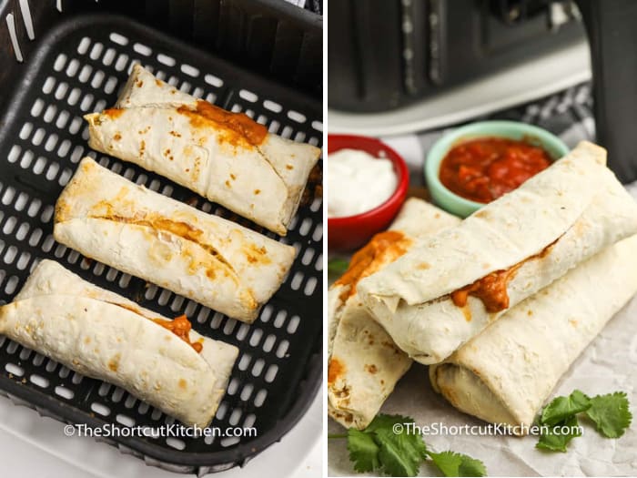
[(349, 285), (349, 290), (340, 295), (340, 300), (347, 300), (356, 294), (356, 285), (378, 271), (384, 264), (389, 264), (402, 256), (411, 245), (411, 239), (398, 230), (379, 232), (354, 254), (349, 268), (335, 284)]

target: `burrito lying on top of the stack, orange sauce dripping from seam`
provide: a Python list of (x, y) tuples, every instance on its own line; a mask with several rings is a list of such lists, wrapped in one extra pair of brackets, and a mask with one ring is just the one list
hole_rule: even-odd
[(399, 348), (443, 361), (502, 313), (637, 232), (637, 204), (581, 143), (459, 226), (424, 240), (359, 283)]

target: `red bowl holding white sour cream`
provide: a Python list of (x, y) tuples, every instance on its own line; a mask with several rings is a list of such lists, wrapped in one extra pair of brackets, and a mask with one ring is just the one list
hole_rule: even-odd
[[(328, 247), (330, 250), (352, 250), (365, 244), (374, 234), (387, 229), (396, 217), (407, 197), (410, 185), (410, 171), (403, 158), (391, 147), (373, 137), (349, 135), (328, 135), (329, 154), (339, 149), (359, 149), (374, 158), (387, 158), (394, 165), (398, 186), (394, 193), (380, 206), (369, 211), (345, 218), (328, 219)], [(329, 181), (329, 178), (328, 178)], [(329, 187), (329, 186), (328, 186)]]

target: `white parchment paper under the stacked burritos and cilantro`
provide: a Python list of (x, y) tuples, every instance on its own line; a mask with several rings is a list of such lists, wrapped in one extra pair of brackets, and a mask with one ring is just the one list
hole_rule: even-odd
[[(637, 412), (637, 298), (627, 304), (582, 352), (551, 394), (568, 395), (580, 389), (588, 395), (623, 391), (631, 411)], [(411, 416), (418, 425), (442, 422), (448, 427), (485, 424), (454, 409), (431, 390), (427, 367), (414, 363), (399, 381), (381, 409), (383, 413)], [(602, 438), (594, 426), (581, 419), (581, 437), (574, 438), (567, 453), (547, 453), (535, 448), (537, 437), (424, 436), (436, 452), (452, 450), (480, 459), (490, 476), (634, 476), (637, 475), (637, 418), (619, 439)], [(328, 432), (345, 429), (329, 419)], [(349, 462), (347, 440), (328, 441), (329, 476), (358, 475)], [(374, 476), (374, 474), (367, 474)], [(439, 476), (423, 465), (420, 476)]]

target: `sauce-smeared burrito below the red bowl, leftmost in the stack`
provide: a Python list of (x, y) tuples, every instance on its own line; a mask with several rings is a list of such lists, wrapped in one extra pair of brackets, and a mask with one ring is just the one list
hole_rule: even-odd
[(349, 269), (329, 289), (328, 412), (343, 426), (369, 425), (411, 365), (363, 307), (358, 281), (407, 252), (417, 239), (459, 222), (423, 200), (408, 199), (389, 230), (354, 254)]

